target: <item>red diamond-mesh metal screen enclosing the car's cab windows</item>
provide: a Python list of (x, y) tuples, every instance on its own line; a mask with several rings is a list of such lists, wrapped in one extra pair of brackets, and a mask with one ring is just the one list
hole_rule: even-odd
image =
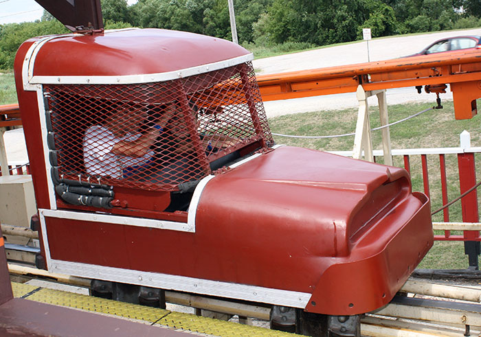
[(45, 85), (58, 174), (175, 191), (272, 137), (251, 64), (142, 84)]

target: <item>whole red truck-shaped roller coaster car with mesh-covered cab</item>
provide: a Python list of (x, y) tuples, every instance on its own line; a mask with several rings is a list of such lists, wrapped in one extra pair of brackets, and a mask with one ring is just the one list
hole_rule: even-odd
[(92, 33), (32, 38), (16, 55), (38, 264), (114, 298), (266, 303), (273, 326), (357, 336), (358, 315), (387, 304), (432, 246), (429, 200), (407, 172), (274, 146), (238, 45)]

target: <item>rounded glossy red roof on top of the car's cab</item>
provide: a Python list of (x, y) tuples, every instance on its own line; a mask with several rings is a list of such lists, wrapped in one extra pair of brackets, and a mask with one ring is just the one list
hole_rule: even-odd
[(170, 73), (249, 55), (247, 49), (221, 38), (171, 30), (128, 29), (92, 35), (67, 34), (52, 36), (39, 49), (31, 75)]

